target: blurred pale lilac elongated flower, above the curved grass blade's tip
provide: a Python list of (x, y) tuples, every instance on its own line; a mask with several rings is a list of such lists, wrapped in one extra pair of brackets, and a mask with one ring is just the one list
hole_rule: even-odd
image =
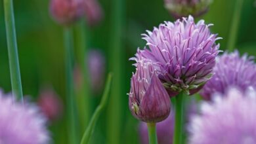
[(105, 58), (100, 50), (91, 50), (88, 53), (88, 67), (90, 83), (93, 92), (100, 92), (105, 79)]

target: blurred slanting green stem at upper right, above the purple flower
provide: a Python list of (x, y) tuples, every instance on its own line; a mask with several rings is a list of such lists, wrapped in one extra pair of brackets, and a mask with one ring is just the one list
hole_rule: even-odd
[(230, 27), (229, 36), (228, 36), (227, 48), (229, 51), (232, 51), (236, 46), (236, 39), (238, 35), (238, 28), (239, 28), (241, 13), (242, 13), (242, 7), (243, 7), (243, 0), (236, 0), (234, 15), (232, 17), (231, 27)]

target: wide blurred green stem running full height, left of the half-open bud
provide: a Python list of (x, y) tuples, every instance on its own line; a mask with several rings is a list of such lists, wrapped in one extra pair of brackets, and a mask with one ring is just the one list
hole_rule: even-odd
[(107, 143), (121, 143), (121, 115), (123, 113), (123, 65), (124, 52), (122, 46), (123, 26), (125, 18), (125, 0), (112, 0), (112, 16), (110, 27), (110, 71), (113, 71), (112, 94), (110, 95), (110, 105), (108, 107), (108, 134)]

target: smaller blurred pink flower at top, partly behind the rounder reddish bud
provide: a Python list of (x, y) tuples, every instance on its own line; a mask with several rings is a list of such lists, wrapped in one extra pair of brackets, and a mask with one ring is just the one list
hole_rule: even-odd
[(85, 1), (85, 16), (90, 26), (100, 22), (103, 17), (100, 3), (97, 0), (84, 0)]

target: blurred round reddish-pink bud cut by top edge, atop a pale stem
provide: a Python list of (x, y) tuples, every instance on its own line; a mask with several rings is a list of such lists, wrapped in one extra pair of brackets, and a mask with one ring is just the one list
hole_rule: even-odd
[(56, 22), (69, 25), (84, 15), (84, 5), (84, 0), (51, 0), (50, 12)]

